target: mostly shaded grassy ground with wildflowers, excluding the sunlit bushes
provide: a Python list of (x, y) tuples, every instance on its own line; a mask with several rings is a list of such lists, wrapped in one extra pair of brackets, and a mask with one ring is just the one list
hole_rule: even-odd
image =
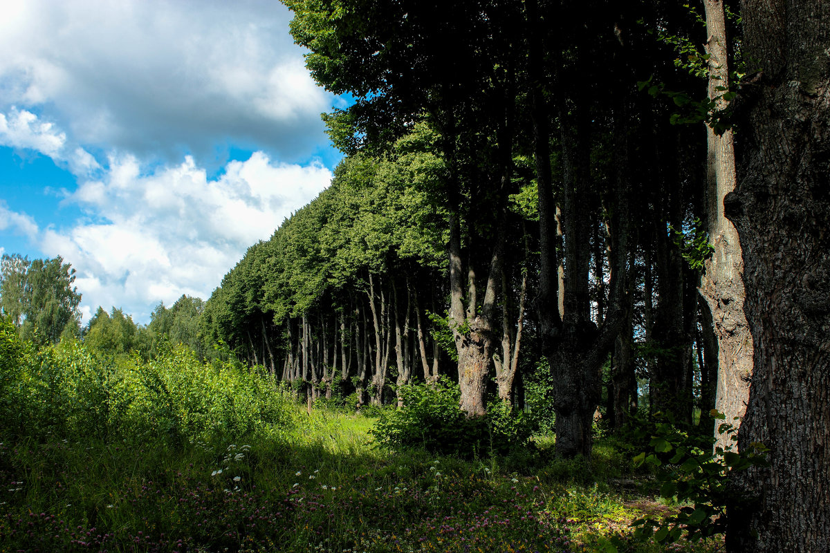
[(378, 449), (364, 416), (297, 420), (288, 443), (7, 440), (0, 551), (617, 551), (608, 536), (672, 508), (602, 441), (590, 462), (554, 458), (544, 440), (470, 461)]

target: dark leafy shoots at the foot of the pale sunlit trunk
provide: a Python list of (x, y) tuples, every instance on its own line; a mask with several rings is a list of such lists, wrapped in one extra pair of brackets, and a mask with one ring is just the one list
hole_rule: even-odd
[[(723, 420), (717, 410), (712, 417)], [(636, 535), (659, 543), (673, 543), (681, 536), (697, 541), (721, 534), (726, 529), (726, 505), (749, 502), (749, 497), (739, 497), (730, 487), (731, 476), (738, 471), (766, 463), (764, 444), (749, 444), (746, 451), (714, 449), (714, 437), (690, 434), (678, 428), (671, 418), (653, 425), (640, 421), (635, 436), (648, 439), (649, 449), (634, 458), (637, 466), (652, 467), (660, 484), (660, 495), (682, 507), (676, 514), (663, 519), (644, 517), (632, 524)], [(719, 432), (737, 439), (737, 428), (732, 424), (720, 424)]]

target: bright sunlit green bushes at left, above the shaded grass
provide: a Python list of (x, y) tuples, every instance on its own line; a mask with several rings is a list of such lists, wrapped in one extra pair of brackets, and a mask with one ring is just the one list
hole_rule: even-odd
[(203, 363), (186, 347), (168, 347), (152, 361), (100, 357), (76, 341), (30, 352), (12, 327), (3, 319), (4, 433), (179, 443), (291, 426), (288, 402), (264, 371)]

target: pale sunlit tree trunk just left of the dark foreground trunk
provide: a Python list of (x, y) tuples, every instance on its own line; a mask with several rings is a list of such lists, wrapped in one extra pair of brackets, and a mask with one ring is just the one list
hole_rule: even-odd
[[(718, 87), (729, 86), (728, 42), (722, 0), (706, 0), (706, 52), (709, 54), (707, 94), (725, 109)], [(735, 137), (732, 129), (716, 134), (706, 126), (706, 216), (710, 244), (715, 252), (706, 260), (701, 278), (701, 295), (709, 304), (718, 340), (718, 377), (715, 409), (726, 422), (740, 426), (749, 399), (752, 376), (752, 335), (744, 313), (744, 260), (735, 225), (724, 215), (724, 197), (735, 189)], [(735, 444), (715, 427), (715, 448)]]

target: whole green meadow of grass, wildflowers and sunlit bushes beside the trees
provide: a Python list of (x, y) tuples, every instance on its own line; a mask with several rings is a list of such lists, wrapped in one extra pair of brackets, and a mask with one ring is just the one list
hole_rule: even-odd
[(612, 551), (635, 516), (613, 486), (631, 464), (602, 444), (590, 462), (393, 452), (376, 419), (308, 413), (186, 350), (106, 361), (2, 332), (0, 350), (0, 551)]

